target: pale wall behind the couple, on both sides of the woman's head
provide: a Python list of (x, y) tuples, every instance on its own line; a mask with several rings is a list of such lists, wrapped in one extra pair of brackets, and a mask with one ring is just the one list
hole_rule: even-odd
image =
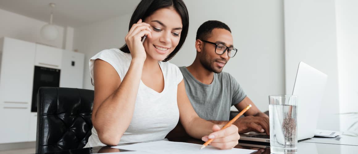
[[(182, 49), (170, 62), (178, 66), (190, 65), (196, 54), (197, 29), (207, 20), (220, 20), (231, 28), (234, 46), (239, 49), (224, 71), (237, 79), (259, 109), (268, 110), (268, 95), (285, 93), (282, 0), (221, 1), (227, 4), (221, 5), (226, 8), (218, 7), (217, 3), (214, 0), (185, 0), (189, 11), (189, 34)], [(103, 49), (122, 46), (130, 17), (128, 14), (75, 29), (74, 49), (86, 53), (84, 88), (93, 89), (87, 60)]]

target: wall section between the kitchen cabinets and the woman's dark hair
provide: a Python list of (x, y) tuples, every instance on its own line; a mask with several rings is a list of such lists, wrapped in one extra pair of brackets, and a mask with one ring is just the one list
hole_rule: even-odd
[(130, 18), (131, 14), (128, 14), (74, 29), (73, 48), (85, 54), (84, 89), (94, 89), (89, 75), (89, 58), (101, 50), (120, 48), (124, 45)]

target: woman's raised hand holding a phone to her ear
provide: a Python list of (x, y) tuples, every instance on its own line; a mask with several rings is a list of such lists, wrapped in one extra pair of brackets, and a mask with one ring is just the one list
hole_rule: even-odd
[(125, 41), (132, 55), (132, 59), (139, 59), (143, 61), (146, 59), (146, 53), (141, 39), (144, 35), (147, 35), (148, 38), (151, 38), (151, 31), (152, 30), (150, 29), (150, 25), (143, 23), (142, 19), (139, 19), (136, 24), (132, 25), (131, 29), (125, 37)]

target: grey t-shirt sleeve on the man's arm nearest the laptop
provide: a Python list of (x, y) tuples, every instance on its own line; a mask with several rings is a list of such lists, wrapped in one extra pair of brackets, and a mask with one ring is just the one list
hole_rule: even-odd
[(232, 100), (231, 106), (240, 103), (245, 97), (246, 94), (240, 84), (236, 81), (236, 79), (229, 74), (231, 87), (232, 87)]

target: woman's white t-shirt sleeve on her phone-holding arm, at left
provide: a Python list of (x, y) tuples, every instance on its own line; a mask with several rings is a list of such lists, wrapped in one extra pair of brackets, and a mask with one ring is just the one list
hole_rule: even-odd
[[(122, 51), (115, 51), (113, 49), (102, 50), (91, 59), (89, 59), (89, 73), (91, 74), (91, 79), (93, 79), (93, 65), (96, 59), (101, 59), (112, 65), (112, 67), (117, 71), (121, 80), (123, 80), (127, 71), (127, 58)], [(95, 81), (93, 80), (93, 83), (94, 82)]]

